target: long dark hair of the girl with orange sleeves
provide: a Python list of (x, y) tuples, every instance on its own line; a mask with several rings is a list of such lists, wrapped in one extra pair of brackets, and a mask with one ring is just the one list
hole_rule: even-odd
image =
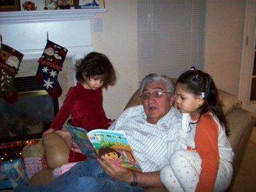
[(211, 111), (214, 115), (217, 116), (220, 124), (225, 127), (226, 135), (228, 136), (228, 123), (226, 117), (223, 113), (222, 104), (218, 97), (218, 90), (214, 84), (212, 77), (202, 72), (202, 70), (191, 70), (184, 72), (176, 81), (176, 85), (181, 84), (182, 87), (189, 93), (194, 95), (204, 95), (204, 104), (198, 108), (200, 111), (200, 120), (203, 113)]

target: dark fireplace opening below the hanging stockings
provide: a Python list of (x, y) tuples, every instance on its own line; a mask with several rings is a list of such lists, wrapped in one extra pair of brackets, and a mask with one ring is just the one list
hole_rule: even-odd
[(15, 78), (14, 87), (19, 97), (16, 103), (0, 99), (0, 149), (5, 159), (14, 159), (27, 143), (40, 140), (59, 108), (58, 99), (51, 97), (35, 76)]

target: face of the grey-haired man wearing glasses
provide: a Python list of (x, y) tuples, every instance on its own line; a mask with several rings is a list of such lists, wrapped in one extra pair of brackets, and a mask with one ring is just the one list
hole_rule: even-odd
[[(148, 83), (143, 89), (143, 93), (152, 92), (167, 92), (166, 86), (161, 81)], [(168, 93), (163, 93), (160, 97), (153, 97), (151, 94), (148, 99), (142, 99), (143, 108), (147, 114), (147, 122), (156, 124), (170, 109), (172, 108), (174, 96), (168, 96)]]

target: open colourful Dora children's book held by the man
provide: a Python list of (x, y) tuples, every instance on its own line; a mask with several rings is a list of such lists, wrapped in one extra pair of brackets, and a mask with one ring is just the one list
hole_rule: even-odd
[(87, 156), (105, 156), (116, 166), (143, 173), (124, 131), (95, 129), (87, 132), (86, 129), (72, 125), (66, 125), (66, 129), (77, 147)]

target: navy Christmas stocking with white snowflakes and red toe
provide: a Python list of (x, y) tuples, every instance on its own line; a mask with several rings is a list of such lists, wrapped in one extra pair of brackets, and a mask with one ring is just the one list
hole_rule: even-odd
[(58, 74), (68, 50), (47, 40), (42, 57), (39, 59), (36, 81), (54, 98), (60, 97), (62, 89), (58, 83)]

